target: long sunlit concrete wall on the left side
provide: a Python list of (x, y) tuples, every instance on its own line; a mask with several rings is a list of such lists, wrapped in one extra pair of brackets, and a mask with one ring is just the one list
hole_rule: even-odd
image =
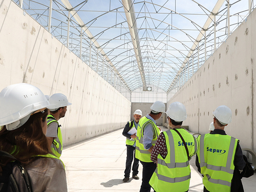
[(59, 120), (65, 145), (123, 127), (131, 102), (15, 3), (0, 0), (0, 90), (26, 82), (73, 103)]

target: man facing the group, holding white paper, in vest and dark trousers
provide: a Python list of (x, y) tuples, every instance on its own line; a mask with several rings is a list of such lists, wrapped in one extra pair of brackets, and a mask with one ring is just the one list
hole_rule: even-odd
[(124, 170), (124, 178), (123, 182), (127, 182), (130, 179), (131, 166), (133, 162), (133, 178), (138, 180), (139, 177), (137, 174), (139, 173), (139, 160), (135, 158), (135, 146), (136, 146), (136, 134), (137, 134), (137, 126), (139, 120), (142, 116), (141, 110), (136, 110), (134, 112), (134, 120), (128, 121), (123, 129), (123, 136), (126, 137), (126, 146), (127, 146), (127, 156), (126, 156), (126, 164)]

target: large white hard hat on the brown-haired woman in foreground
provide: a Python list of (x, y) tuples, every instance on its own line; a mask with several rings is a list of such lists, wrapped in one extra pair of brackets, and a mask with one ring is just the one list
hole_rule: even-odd
[(12, 84), (0, 92), (0, 126), (15, 130), (26, 123), (33, 112), (49, 105), (37, 87), (27, 83)]

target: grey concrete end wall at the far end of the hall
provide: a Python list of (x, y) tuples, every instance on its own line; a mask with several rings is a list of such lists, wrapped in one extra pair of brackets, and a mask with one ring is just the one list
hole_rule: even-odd
[[(150, 114), (151, 112), (151, 105), (153, 103), (141, 103), (141, 102), (133, 102), (132, 103), (132, 110), (131, 110), (131, 120), (134, 119), (133, 117), (133, 113), (135, 112), (135, 110), (141, 110), (142, 111), (142, 117), (146, 116), (146, 114)], [(156, 120), (157, 125), (162, 126), (165, 123), (165, 113), (162, 113), (160, 119)]]

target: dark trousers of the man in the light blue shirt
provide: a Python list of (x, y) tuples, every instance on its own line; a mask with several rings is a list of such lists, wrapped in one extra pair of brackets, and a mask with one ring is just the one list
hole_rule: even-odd
[(150, 179), (155, 172), (157, 165), (154, 162), (143, 162), (140, 161), (142, 169), (142, 184), (140, 186), (140, 192), (150, 192), (151, 186), (149, 184)]

